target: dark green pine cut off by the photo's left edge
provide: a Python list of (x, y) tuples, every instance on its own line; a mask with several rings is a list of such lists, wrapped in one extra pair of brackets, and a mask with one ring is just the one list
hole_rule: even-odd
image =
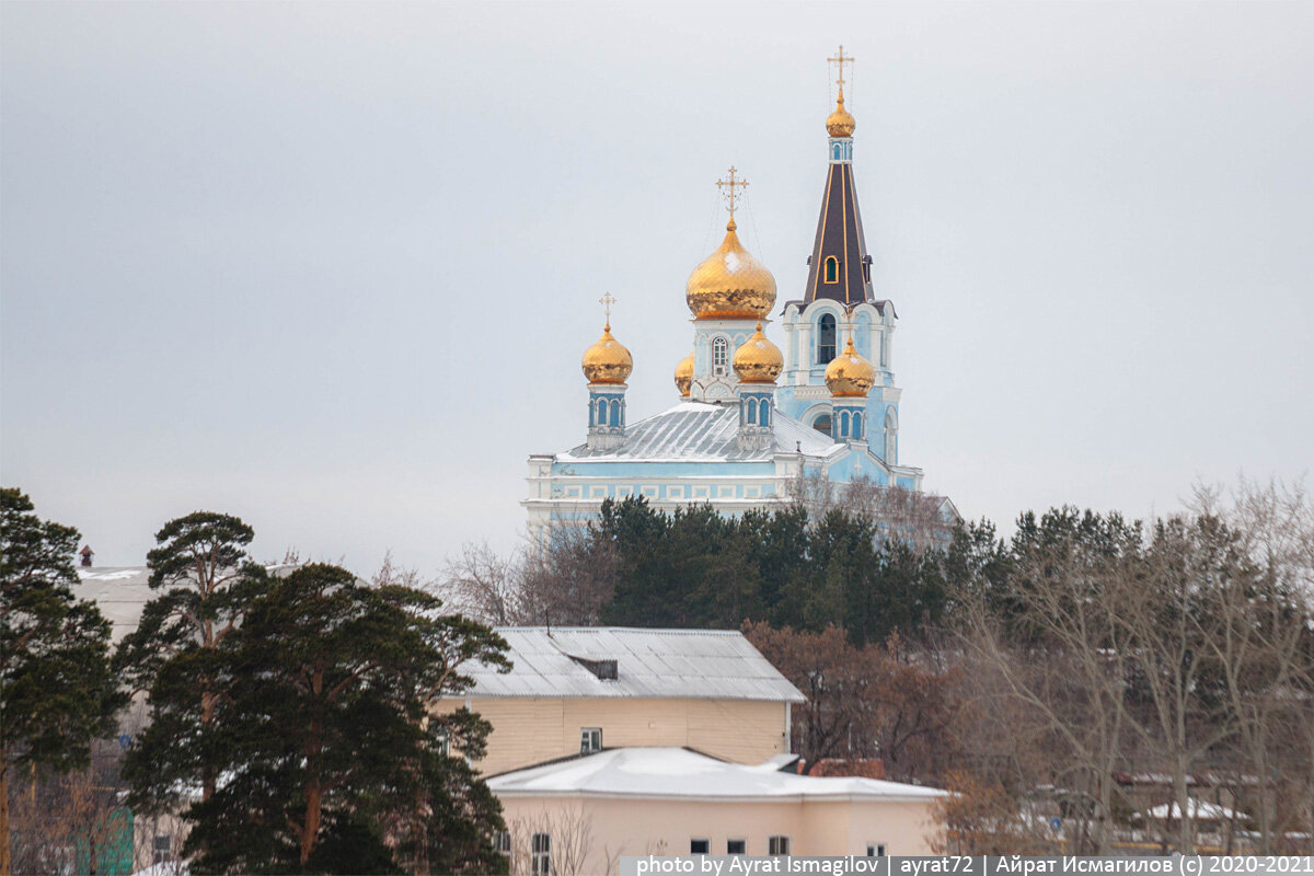
[(0, 875), (9, 873), (9, 776), (85, 766), (122, 704), (109, 671), (109, 623), (74, 598), (72, 527), (41, 520), (0, 490)]

